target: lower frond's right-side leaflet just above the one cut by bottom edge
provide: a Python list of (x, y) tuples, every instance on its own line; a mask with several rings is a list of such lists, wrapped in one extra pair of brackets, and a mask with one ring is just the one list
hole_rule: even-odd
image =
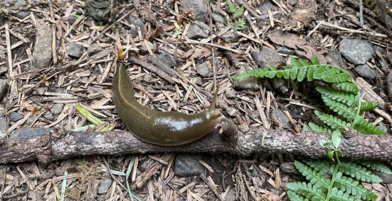
[(353, 180), (351, 177), (342, 176), (341, 172), (338, 172), (335, 177), (334, 187), (367, 201), (373, 201), (377, 199), (377, 194), (368, 190), (363, 185), (359, 184), (358, 181)]

